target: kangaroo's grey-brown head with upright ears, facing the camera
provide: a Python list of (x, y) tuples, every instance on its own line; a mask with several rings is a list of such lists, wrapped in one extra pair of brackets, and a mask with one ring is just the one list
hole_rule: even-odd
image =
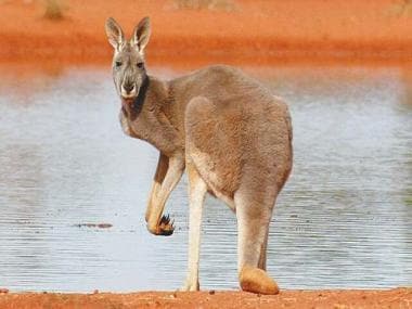
[(125, 39), (124, 31), (117, 22), (110, 17), (106, 21), (106, 35), (114, 48), (113, 79), (117, 93), (124, 101), (133, 102), (146, 79), (144, 66), (144, 48), (149, 42), (151, 26), (144, 17), (136, 26), (130, 40)]

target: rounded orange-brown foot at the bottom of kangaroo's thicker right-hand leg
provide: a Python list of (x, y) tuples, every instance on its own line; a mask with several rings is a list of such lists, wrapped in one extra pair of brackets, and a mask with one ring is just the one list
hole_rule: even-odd
[(259, 268), (244, 266), (239, 275), (243, 291), (259, 294), (278, 294), (278, 284), (268, 273)]

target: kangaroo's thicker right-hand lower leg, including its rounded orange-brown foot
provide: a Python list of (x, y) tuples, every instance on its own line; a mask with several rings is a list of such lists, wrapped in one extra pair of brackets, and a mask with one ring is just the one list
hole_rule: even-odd
[(242, 191), (234, 195), (240, 284), (243, 291), (278, 294), (276, 283), (266, 272), (266, 249), (274, 197), (257, 198), (259, 193), (252, 195)]

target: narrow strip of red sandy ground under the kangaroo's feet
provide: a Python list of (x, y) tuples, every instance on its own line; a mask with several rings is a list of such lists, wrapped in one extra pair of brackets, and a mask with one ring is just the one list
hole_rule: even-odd
[(412, 308), (412, 288), (390, 291), (141, 292), (132, 294), (0, 294), (0, 308)]

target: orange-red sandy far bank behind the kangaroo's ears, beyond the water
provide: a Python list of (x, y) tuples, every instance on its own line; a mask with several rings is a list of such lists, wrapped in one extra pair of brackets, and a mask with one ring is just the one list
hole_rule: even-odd
[(145, 15), (149, 60), (156, 62), (412, 60), (409, 0), (226, 0), (234, 4), (229, 11), (177, 9), (179, 0), (61, 1), (64, 18), (51, 21), (43, 0), (0, 0), (0, 61), (106, 63), (105, 20), (115, 17), (130, 35)]

